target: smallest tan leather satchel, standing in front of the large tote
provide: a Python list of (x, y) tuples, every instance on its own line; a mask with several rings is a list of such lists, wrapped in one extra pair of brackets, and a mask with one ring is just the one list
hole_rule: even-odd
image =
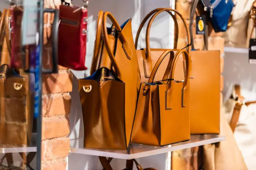
[[(171, 57), (164, 74), (169, 75), (168, 81), (153, 82), (156, 71), (169, 53)], [(185, 80), (179, 82), (174, 81), (174, 70), (181, 54), (186, 58), (187, 69)], [(148, 82), (141, 83), (132, 143), (164, 146), (190, 139), (190, 56), (186, 50), (179, 50), (174, 58), (173, 55), (172, 50), (166, 50), (157, 60)]]

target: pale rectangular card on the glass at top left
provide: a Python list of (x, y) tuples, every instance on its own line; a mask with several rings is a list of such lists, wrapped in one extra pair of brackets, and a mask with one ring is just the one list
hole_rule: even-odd
[(36, 44), (38, 6), (36, 0), (23, 0), (22, 45)]

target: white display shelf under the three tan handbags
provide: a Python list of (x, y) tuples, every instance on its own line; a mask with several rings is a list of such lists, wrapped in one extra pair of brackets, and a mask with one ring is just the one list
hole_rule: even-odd
[(70, 153), (78, 153), (84, 155), (104, 156), (118, 159), (137, 159), (161, 153), (167, 153), (175, 150), (193, 148), (196, 146), (207, 145), (210, 143), (218, 143), (225, 140), (225, 137), (218, 135), (192, 135), (191, 140), (164, 147), (131, 144), (130, 154), (126, 150), (102, 150), (102, 149), (86, 149), (83, 147), (83, 138), (70, 140)]

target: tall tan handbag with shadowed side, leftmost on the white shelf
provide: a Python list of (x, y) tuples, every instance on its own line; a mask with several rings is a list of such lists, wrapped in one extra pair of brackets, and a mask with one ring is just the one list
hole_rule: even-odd
[[(115, 36), (109, 34), (107, 18), (115, 27)], [(97, 68), (97, 71), (78, 80), (84, 147), (126, 150), (140, 81), (131, 19), (120, 27), (112, 14), (100, 11), (94, 52), (92, 70)]]

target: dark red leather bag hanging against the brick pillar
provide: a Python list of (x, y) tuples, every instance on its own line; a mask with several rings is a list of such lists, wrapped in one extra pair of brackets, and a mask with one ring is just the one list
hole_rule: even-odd
[[(85, 67), (87, 9), (60, 5), (59, 65), (73, 70)], [(77, 10), (77, 11), (75, 11)]]

